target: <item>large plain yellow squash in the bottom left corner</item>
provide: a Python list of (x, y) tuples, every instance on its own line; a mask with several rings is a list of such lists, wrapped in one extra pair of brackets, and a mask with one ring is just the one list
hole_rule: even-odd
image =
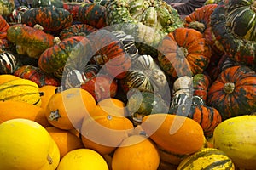
[(0, 170), (55, 170), (60, 150), (46, 129), (28, 119), (0, 124)]

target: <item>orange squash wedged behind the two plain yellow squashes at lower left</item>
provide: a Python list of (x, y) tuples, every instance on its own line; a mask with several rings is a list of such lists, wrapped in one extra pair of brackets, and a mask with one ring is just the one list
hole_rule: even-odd
[(59, 147), (61, 158), (71, 150), (84, 148), (81, 139), (67, 130), (57, 127), (45, 127), (45, 129)]

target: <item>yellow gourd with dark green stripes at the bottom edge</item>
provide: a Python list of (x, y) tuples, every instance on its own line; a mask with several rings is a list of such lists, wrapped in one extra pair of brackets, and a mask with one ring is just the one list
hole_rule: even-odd
[(235, 167), (230, 157), (226, 156), (222, 150), (215, 148), (202, 148), (183, 159), (177, 167), (177, 170), (189, 169), (235, 170)]

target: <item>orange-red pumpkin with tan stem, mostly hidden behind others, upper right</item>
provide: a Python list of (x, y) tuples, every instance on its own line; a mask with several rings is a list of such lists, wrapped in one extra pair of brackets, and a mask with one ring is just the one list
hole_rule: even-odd
[(192, 11), (184, 18), (184, 26), (201, 31), (207, 43), (211, 46), (212, 51), (217, 54), (222, 54), (224, 48), (216, 41), (216, 37), (212, 34), (211, 26), (211, 14), (217, 6), (218, 4), (208, 4)]

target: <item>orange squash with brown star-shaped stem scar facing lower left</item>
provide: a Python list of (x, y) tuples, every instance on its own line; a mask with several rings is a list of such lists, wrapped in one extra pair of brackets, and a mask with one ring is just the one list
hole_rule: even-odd
[(51, 96), (45, 116), (54, 127), (70, 130), (79, 128), (84, 116), (95, 107), (96, 101), (89, 92), (82, 88), (68, 88)]

